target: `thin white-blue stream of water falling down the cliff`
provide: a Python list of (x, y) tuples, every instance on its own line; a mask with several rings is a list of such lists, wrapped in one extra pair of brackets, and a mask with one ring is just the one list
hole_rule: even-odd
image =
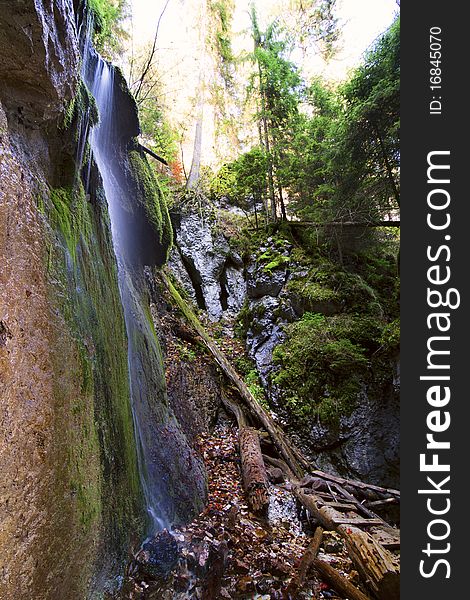
[[(129, 192), (122, 181), (120, 163), (117, 160), (119, 143), (116, 135), (116, 120), (119, 115), (115, 107), (114, 69), (93, 50), (89, 35), (85, 36), (82, 52), (82, 76), (96, 100), (99, 111), (99, 124), (92, 128), (89, 141), (103, 181), (111, 221), (112, 240), (118, 265), (119, 291), (128, 339), (129, 385), (138, 466), (146, 508), (152, 521), (151, 533), (153, 533), (163, 527), (169, 528), (169, 523), (159, 508), (157, 500), (161, 482), (158, 469), (152, 461), (152, 445), (155, 444), (155, 440), (152, 439), (152, 430), (148, 426), (152, 415), (151, 399), (147, 397), (149, 386), (142, 381), (145, 379), (145, 368), (142, 364), (142, 352), (139, 352), (137, 347), (139, 335), (140, 340), (145, 336), (146, 343), (150, 345), (147, 348), (150, 355), (148, 360), (154, 359), (158, 362), (159, 349), (150, 331), (142, 302), (139, 301), (143, 289), (143, 265), (136, 264), (133, 254), (133, 237), (129, 233), (129, 229), (132, 228), (132, 199), (129, 198)], [(86, 135), (87, 126), (82, 125), (82, 129)], [(88, 167), (87, 177), (89, 172), (90, 167)]]

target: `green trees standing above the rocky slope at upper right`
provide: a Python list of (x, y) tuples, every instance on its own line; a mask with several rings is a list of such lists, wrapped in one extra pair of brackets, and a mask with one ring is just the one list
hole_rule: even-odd
[(255, 24), (259, 144), (219, 171), (216, 193), (221, 187), (238, 202), (262, 201), (268, 220), (278, 214), (317, 223), (396, 218), (399, 29), (397, 18), (335, 88), (321, 79), (307, 84), (287, 58), (286, 34), (275, 25), (261, 34)]

